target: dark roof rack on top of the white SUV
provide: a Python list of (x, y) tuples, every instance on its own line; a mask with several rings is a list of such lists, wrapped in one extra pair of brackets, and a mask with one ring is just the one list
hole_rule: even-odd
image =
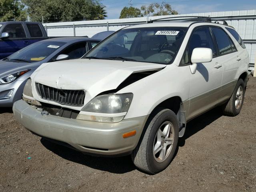
[(222, 21), (224, 25), (228, 26), (228, 23), (225, 20), (217, 20), (217, 19), (212, 19), (210, 17), (204, 17), (204, 16), (178, 16), (178, 17), (166, 17), (166, 18), (160, 18), (160, 19), (154, 19), (154, 20), (149, 20), (147, 23), (153, 23), (154, 21), (159, 21), (159, 20), (165, 20), (169, 19), (171, 21), (175, 20), (184, 20), (184, 21), (202, 21), (202, 22), (209, 22), (211, 23), (212, 21), (215, 21), (214, 23), (218, 23), (219, 21)]

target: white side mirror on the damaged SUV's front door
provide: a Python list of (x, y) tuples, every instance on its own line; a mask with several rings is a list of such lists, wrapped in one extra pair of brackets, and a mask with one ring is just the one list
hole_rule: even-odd
[(191, 56), (192, 65), (190, 71), (192, 74), (196, 73), (198, 63), (206, 63), (212, 61), (212, 50), (209, 48), (194, 48)]

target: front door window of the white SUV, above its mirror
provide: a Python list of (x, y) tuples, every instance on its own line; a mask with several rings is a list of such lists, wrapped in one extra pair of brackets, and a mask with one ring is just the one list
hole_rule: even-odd
[(198, 28), (192, 32), (188, 45), (190, 54), (192, 54), (194, 48), (210, 48), (212, 56), (216, 56), (216, 48), (208, 27)]

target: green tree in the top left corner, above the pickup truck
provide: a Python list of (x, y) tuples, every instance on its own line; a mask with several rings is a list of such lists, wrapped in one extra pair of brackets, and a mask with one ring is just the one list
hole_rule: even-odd
[(0, 21), (24, 21), (26, 11), (19, 0), (0, 0)]

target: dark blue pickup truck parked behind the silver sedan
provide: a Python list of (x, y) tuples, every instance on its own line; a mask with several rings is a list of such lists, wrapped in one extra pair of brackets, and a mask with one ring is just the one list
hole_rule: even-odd
[(39, 22), (0, 22), (0, 59), (47, 38)]

